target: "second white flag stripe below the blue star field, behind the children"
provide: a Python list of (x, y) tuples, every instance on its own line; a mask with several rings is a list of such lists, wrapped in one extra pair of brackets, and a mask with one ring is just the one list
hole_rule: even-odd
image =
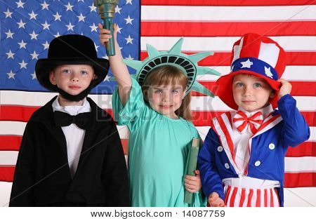
[[(210, 122), (211, 125), (211, 122)], [(0, 121), (0, 135), (23, 135), (25, 130), (26, 123), (20, 121)], [(202, 140), (205, 139), (207, 133), (209, 133), (210, 126), (197, 126), (197, 131), (199, 131), (199, 135)], [(117, 126), (117, 130), (119, 131), (119, 136), (121, 139), (129, 138), (129, 129), (127, 126)], [(316, 142), (316, 127), (310, 127), (310, 142)]]

